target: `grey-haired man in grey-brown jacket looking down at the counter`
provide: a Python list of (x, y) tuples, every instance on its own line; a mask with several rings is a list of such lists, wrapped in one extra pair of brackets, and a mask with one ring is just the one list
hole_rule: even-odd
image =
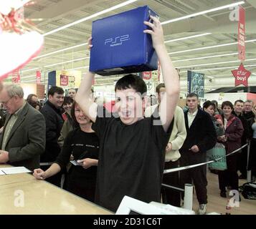
[(23, 97), (22, 87), (16, 84), (5, 85), (0, 93), (0, 101), (8, 112), (0, 138), (0, 163), (34, 170), (44, 152), (45, 121)]

